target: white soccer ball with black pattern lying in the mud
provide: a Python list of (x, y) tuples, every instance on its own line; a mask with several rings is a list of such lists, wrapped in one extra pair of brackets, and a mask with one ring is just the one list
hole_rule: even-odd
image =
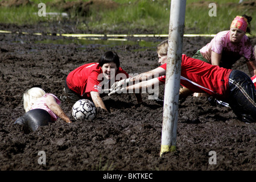
[(72, 107), (72, 115), (76, 121), (93, 120), (96, 114), (96, 106), (90, 100), (81, 99)]

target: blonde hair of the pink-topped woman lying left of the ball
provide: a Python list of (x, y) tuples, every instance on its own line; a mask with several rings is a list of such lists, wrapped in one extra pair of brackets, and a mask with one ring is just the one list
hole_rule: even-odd
[(44, 94), (46, 94), (46, 92), (38, 87), (33, 87), (23, 94), (23, 105), (26, 113), (31, 109), (31, 106), (35, 103), (35, 101)]

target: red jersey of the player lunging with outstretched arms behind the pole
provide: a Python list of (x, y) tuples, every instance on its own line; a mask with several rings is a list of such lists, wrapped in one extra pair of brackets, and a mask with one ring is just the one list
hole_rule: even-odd
[[(166, 69), (167, 63), (161, 65)], [(221, 68), (204, 61), (182, 55), (180, 84), (192, 92), (206, 92), (210, 96), (224, 99), (228, 96), (229, 75), (232, 69)], [(159, 77), (165, 82), (166, 76)]]

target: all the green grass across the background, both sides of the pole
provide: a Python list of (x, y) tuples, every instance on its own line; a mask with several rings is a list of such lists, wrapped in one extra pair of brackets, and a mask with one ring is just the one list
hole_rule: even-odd
[[(51, 7), (48, 2), (60, 0), (31, 0), (32, 6), (0, 7), (0, 23), (34, 24), (36, 22), (53, 22), (61, 17), (39, 17), (36, 15), (40, 2), (47, 5), (47, 12), (61, 12), (58, 6)], [(72, 0), (66, 0), (66, 2)], [(74, 0), (75, 1), (75, 0)], [(84, 0), (85, 2), (89, 0)], [(1, 2), (1, 0), (0, 0)], [(108, 9), (104, 5), (100, 10), (91, 9), (89, 16), (79, 16), (71, 12), (71, 20), (77, 22), (80, 30), (101, 30), (102, 32), (128, 32), (147, 30), (154, 34), (168, 34), (171, 1), (167, 0), (116, 0), (119, 6)], [(217, 16), (209, 16), (209, 3), (217, 5)], [(255, 5), (254, 5), (255, 6)], [(254, 8), (255, 9), (255, 8)], [(251, 32), (256, 34), (256, 16), (253, 6), (241, 6), (238, 0), (196, 1), (187, 0), (185, 12), (185, 34), (216, 34), (228, 30), (236, 15), (247, 14), (253, 17)]]

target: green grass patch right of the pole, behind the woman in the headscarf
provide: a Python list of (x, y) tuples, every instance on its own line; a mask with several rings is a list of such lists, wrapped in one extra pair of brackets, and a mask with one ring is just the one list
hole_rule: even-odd
[[(209, 1), (210, 2), (210, 1)], [(241, 6), (238, 1), (213, 1), (217, 5), (217, 16), (209, 16), (210, 8), (208, 2), (200, 7), (187, 5), (185, 16), (185, 27), (187, 33), (201, 32), (216, 34), (219, 31), (229, 30), (230, 24), (236, 15), (247, 14), (253, 17), (251, 22), (251, 33), (255, 35), (256, 17), (255, 10), (250, 6)], [(233, 2), (233, 3), (230, 3)], [(198, 5), (198, 3), (197, 3)]]

